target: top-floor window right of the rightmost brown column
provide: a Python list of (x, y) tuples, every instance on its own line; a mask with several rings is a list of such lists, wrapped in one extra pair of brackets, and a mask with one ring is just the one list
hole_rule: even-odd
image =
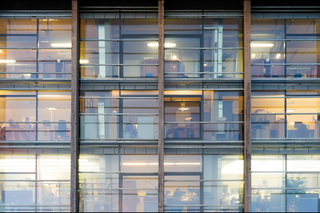
[[(257, 17), (257, 18), (254, 18)], [(251, 22), (251, 75), (255, 78), (318, 78), (320, 19)]]

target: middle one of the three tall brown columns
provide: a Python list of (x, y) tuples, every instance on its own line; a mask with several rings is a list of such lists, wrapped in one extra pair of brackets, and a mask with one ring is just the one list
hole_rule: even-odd
[(159, 26), (159, 49), (158, 49), (158, 101), (159, 101), (159, 139), (158, 139), (158, 211), (163, 212), (164, 208), (164, 100), (163, 100), (163, 90), (164, 90), (164, 0), (158, 0), (158, 26)]

